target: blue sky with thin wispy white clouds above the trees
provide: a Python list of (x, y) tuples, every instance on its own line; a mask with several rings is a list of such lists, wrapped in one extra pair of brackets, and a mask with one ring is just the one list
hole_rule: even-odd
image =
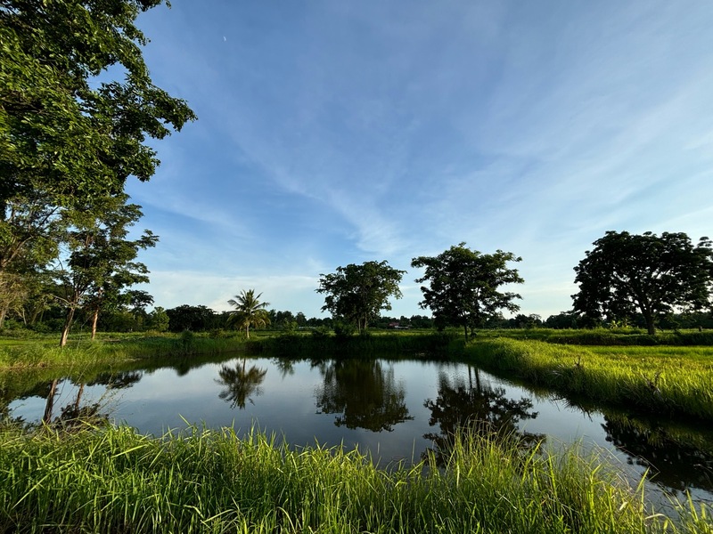
[(255, 288), (323, 317), (320, 273), (461, 241), (522, 257), (521, 312), (569, 310), (605, 231), (711, 235), (713, 4), (172, 0), (139, 19), (199, 120), (130, 181), (156, 305)]

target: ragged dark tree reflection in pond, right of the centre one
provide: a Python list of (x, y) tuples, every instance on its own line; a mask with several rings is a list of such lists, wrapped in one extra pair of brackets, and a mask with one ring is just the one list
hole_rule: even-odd
[[(473, 384), (473, 377), (475, 384)], [(526, 398), (515, 401), (505, 396), (502, 387), (482, 384), (478, 368), (468, 367), (468, 384), (462, 376), (453, 382), (446, 373), (438, 374), (438, 397), (435, 401), (423, 403), (430, 409), (429, 425), (438, 425), (440, 433), (427, 433), (423, 437), (433, 441), (433, 448), (426, 450), (422, 457), (432, 452), (438, 465), (445, 465), (455, 444), (456, 433), (478, 434), (493, 440), (515, 441), (520, 447), (534, 447), (545, 440), (544, 434), (523, 433), (518, 423), (524, 419), (534, 419), (532, 401)]]

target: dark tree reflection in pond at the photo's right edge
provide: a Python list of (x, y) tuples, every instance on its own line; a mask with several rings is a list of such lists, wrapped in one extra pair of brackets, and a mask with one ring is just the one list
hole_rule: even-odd
[(651, 469), (652, 482), (673, 495), (698, 488), (713, 491), (713, 440), (702, 434), (677, 432), (660, 422), (607, 414), (602, 428), (629, 464)]

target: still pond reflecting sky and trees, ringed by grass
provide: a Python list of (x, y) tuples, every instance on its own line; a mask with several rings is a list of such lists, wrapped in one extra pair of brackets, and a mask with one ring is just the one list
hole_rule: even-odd
[[(20, 388), (23, 389), (23, 388)], [(40, 421), (50, 384), (4, 392), (4, 411)], [(191, 367), (124, 371), (87, 384), (60, 380), (53, 417), (85, 409), (141, 433), (189, 424), (258, 428), (296, 446), (342, 445), (380, 465), (417, 461), (460, 425), (486, 421), (550, 446), (579, 442), (611, 451), (635, 485), (648, 469), (649, 498), (689, 491), (713, 502), (713, 432), (701, 425), (646, 420), (581, 408), (547, 392), (490, 376), (463, 363), (422, 360), (231, 359)]]

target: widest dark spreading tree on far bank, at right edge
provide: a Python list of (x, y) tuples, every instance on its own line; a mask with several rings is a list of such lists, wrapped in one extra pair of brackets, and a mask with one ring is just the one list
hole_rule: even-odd
[(649, 334), (662, 315), (710, 306), (713, 243), (694, 246), (684, 233), (608, 231), (574, 268), (574, 310), (595, 320), (628, 319), (639, 312)]

